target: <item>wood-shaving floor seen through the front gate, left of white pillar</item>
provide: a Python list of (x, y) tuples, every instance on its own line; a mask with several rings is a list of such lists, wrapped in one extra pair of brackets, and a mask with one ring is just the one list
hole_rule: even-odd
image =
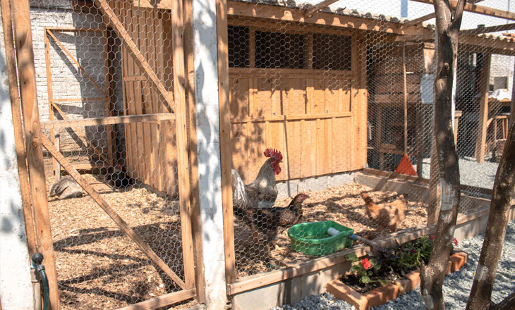
[[(145, 188), (113, 190), (102, 175), (83, 177), (183, 279), (178, 202)], [(53, 182), (47, 173), (47, 190)], [(180, 290), (90, 196), (50, 197), (49, 211), (61, 309), (119, 309)], [(194, 304), (183, 302), (174, 309)]]

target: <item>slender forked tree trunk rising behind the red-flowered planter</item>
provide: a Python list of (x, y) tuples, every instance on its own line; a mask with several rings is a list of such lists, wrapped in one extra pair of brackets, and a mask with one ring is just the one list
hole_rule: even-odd
[(454, 17), (449, 1), (435, 0), (433, 4), (438, 38), (434, 134), (442, 192), (440, 216), (430, 260), (428, 266), (420, 268), (420, 292), (427, 309), (445, 310), (442, 284), (452, 249), (460, 199), (458, 155), (452, 130), (452, 81), (465, 0), (459, 0)]

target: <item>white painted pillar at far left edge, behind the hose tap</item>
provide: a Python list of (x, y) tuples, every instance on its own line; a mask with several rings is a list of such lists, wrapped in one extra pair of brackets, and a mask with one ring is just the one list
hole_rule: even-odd
[(32, 310), (34, 298), (7, 76), (4, 33), (0, 32), (0, 301), (2, 310)]

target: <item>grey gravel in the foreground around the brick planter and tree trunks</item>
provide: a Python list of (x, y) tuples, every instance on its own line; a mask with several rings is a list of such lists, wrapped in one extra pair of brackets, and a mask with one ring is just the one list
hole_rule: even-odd
[[(485, 235), (478, 235), (460, 242), (459, 248), (468, 253), (468, 263), (459, 271), (447, 275), (444, 281), (444, 296), (446, 309), (465, 309), (468, 294), (472, 287), (475, 268), (478, 264), (481, 247)], [(502, 250), (497, 277), (495, 278), (492, 292), (492, 302), (501, 302), (511, 292), (515, 291), (515, 221), (508, 224), (504, 247)], [(315, 294), (305, 297), (301, 302), (293, 305), (274, 307), (271, 310), (322, 310), (322, 309), (354, 309), (353, 306), (340, 299), (335, 299), (331, 294)], [(420, 288), (403, 294), (400, 297), (372, 308), (373, 310), (412, 309), (425, 310), (425, 305), (420, 295)]]

